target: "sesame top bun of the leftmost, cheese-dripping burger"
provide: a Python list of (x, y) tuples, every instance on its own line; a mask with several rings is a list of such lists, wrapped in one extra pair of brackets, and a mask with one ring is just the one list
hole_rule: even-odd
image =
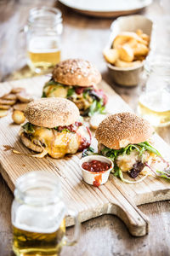
[(32, 125), (47, 128), (71, 125), (79, 118), (77, 106), (64, 98), (42, 98), (30, 102), (24, 113)]

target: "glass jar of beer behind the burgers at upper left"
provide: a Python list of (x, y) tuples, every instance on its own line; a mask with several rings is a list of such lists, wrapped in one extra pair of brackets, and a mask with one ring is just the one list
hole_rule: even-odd
[(26, 32), (27, 63), (35, 73), (44, 73), (60, 61), (62, 16), (59, 9), (30, 10)]

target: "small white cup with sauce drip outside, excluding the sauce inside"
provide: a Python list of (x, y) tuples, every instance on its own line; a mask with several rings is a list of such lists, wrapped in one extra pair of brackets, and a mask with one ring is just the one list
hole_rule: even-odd
[[(105, 171), (105, 172), (89, 172), (89, 171), (82, 168), (82, 164), (84, 162), (90, 162), (92, 160), (99, 160), (101, 162), (108, 163), (108, 164), (111, 165), (111, 168), (109, 170)], [(94, 185), (95, 182), (98, 182), (100, 185), (102, 185), (102, 184), (107, 182), (108, 177), (110, 175), (110, 172), (114, 167), (114, 164), (110, 159), (108, 159), (105, 156), (102, 156), (102, 155), (88, 155), (88, 156), (83, 157), (80, 160), (79, 166), (82, 169), (82, 177), (83, 177), (83, 180), (86, 183), (88, 183), (90, 185)]]

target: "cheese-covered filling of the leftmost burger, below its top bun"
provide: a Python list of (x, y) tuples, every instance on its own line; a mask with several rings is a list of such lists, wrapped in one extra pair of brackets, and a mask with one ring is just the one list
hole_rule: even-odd
[(31, 131), (26, 131), (25, 127), (21, 128), (20, 138), (27, 148), (36, 152), (46, 150), (50, 156), (59, 159), (64, 157), (65, 154), (75, 154), (79, 149), (88, 148), (90, 145), (88, 131), (85, 131), (86, 128), (82, 125), (77, 127), (77, 131), (73, 128), (75, 127), (71, 126), (72, 130), (69, 131), (65, 127), (61, 130), (60, 126), (57, 129), (48, 129), (31, 125)]

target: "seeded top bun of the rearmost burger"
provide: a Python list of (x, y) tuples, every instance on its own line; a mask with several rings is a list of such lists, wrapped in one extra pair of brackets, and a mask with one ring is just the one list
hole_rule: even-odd
[(92, 86), (98, 84), (101, 75), (94, 65), (82, 59), (60, 61), (54, 67), (53, 79), (65, 85)]

